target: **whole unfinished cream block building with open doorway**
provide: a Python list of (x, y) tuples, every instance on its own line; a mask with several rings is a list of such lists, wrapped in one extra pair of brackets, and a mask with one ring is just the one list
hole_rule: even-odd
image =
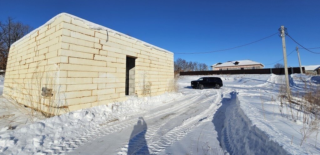
[(13, 43), (4, 96), (61, 114), (172, 90), (173, 53), (61, 13)]

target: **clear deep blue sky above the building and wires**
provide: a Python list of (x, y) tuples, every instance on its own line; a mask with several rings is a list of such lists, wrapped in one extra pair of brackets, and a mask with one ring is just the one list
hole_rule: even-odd
[[(151, 43), (174, 53), (208, 52), (250, 43), (278, 31), (306, 48), (320, 47), (320, 1), (3, 1), (0, 20), (11, 16), (37, 28), (61, 12)], [(287, 53), (297, 46), (286, 37)], [(320, 49), (312, 49), (320, 52)], [(302, 65), (320, 64), (320, 54), (300, 49)], [(175, 54), (204, 62), (251, 59), (270, 64), (283, 58), (278, 35), (233, 50), (207, 54)], [(283, 61), (280, 61), (283, 63)], [(299, 66), (297, 53), (289, 66)], [(266, 67), (272, 67), (269, 65)]]

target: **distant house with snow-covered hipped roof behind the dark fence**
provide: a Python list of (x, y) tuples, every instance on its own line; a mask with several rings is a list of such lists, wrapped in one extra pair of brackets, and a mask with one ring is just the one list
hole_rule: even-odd
[(212, 70), (261, 69), (263, 64), (252, 60), (236, 60), (217, 63), (211, 66)]

